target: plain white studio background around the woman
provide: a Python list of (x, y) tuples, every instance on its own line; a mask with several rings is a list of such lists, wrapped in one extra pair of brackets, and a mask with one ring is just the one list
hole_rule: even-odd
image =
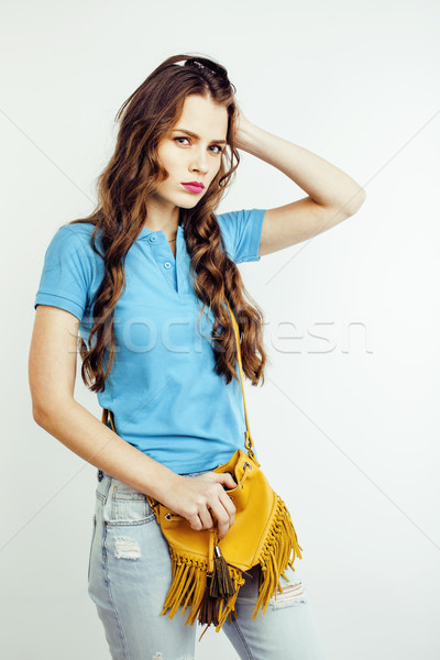
[[(33, 301), (50, 240), (94, 208), (119, 107), (178, 53), (220, 61), (250, 121), (366, 190), (345, 222), (241, 266), (271, 359), (250, 424), (329, 660), (439, 657), (439, 19), (435, 0), (3, 2), (4, 658), (110, 657), (87, 595), (97, 471), (33, 420)], [(241, 153), (219, 211), (305, 197)], [(100, 418), (79, 364), (76, 398)], [(197, 658), (237, 654), (209, 630)]]

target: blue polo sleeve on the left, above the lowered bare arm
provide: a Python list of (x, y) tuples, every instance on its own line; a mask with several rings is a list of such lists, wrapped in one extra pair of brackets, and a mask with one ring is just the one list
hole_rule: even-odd
[(81, 321), (91, 275), (91, 264), (82, 240), (68, 227), (61, 227), (44, 256), (34, 308), (37, 305), (59, 307)]

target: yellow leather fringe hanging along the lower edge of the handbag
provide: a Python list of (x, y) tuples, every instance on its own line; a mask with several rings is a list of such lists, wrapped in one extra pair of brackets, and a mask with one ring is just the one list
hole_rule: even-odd
[[(256, 563), (261, 565), (261, 574), (258, 600), (253, 610), (253, 619), (256, 617), (260, 608), (265, 614), (276, 587), (283, 591), (279, 585), (279, 576), (283, 575), (288, 581), (288, 578), (284, 574), (285, 570), (288, 566), (295, 570), (295, 558), (298, 557), (301, 559), (302, 548), (298, 543), (290, 514), (283, 499), (278, 495), (275, 496), (276, 503), (274, 514), (271, 518), (271, 529), (257, 556)], [(293, 557), (290, 559), (292, 553)], [(242, 571), (231, 564), (227, 564), (234, 593), (222, 598), (219, 597), (217, 600), (218, 609), (212, 612), (213, 604), (207, 600), (209, 591), (208, 580), (210, 579), (210, 575), (208, 575), (208, 560), (205, 558), (195, 558), (194, 554), (179, 552), (174, 548), (169, 548), (169, 554), (173, 566), (173, 581), (162, 614), (166, 614), (167, 609), (169, 609), (168, 616), (173, 618), (180, 605), (183, 606), (182, 615), (189, 607), (185, 625), (193, 625), (200, 613), (204, 623), (206, 616), (211, 618), (218, 632), (229, 615), (237, 615), (235, 602), (240, 587), (244, 584)], [(207, 613), (207, 608), (210, 608), (209, 613)]]

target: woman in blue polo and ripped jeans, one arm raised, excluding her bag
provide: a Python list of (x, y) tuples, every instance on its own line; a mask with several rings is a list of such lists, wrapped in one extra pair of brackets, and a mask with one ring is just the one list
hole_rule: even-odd
[[(170, 558), (146, 496), (194, 530), (217, 525), (220, 539), (234, 522), (226, 490), (235, 483), (212, 471), (243, 449), (245, 431), (224, 298), (252, 385), (264, 382), (266, 362), (262, 312), (237, 264), (328, 230), (364, 200), (346, 174), (248, 121), (234, 92), (227, 70), (205, 57), (169, 57), (146, 78), (118, 113), (96, 210), (55, 233), (35, 298), (33, 415), (98, 469), (88, 593), (118, 660), (195, 652), (196, 626), (161, 614)], [(216, 215), (238, 148), (307, 197)], [(107, 425), (74, 398), (77, 341)], [(252, 619), (258, 571), (246, 575), (237, 617), (222, 628), (241, 658), (326, 658), (300, 575), (287, 576), (283, 596)]]

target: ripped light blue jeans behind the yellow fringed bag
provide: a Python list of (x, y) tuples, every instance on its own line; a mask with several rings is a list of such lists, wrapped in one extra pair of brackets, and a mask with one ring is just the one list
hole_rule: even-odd
[[(168, 544), (145, 495), (98, 471), (92, 524), (88, 594), (103, 624), (111, 658), (193, 660), (196, 635), (200, 637), (204, 627), (185, 625), (188, 609), (183, 616), (178, 609), (173, 619), (161, 614), (172, 565)], [(286, 571), (289, 582), (280, 579), (287, 588), (254, 620), (260, 566), (249, 571), (250, 576), (243, 573), (238, 617), (221, 629), (240, 658), (327, 660), (297, 563), (296, 559), (295, 571)]]

